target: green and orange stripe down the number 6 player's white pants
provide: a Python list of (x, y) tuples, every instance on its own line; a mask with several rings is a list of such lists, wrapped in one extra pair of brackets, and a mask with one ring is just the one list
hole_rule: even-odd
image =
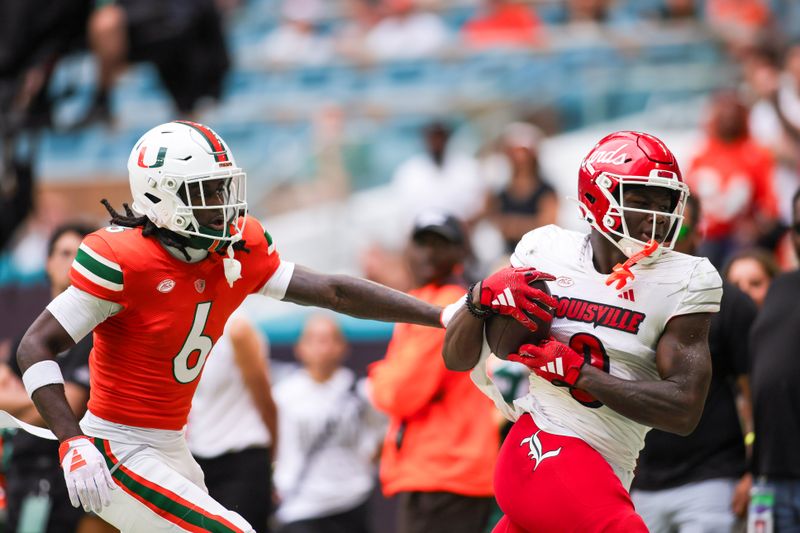
[[(113, 468), (119, 460), (111, 451), (107, 440), (93, 438), (106, 465)], [(171, 490), (148, 481), (125, 465), (119, 465), (112, 474), (114, 482), (127, 494), (141, 502), (148, 509), (187, 531), (197, 533), (246, 533), (243, 529), (221, 516), (209, 513), (194, 503), (181, 498)]]

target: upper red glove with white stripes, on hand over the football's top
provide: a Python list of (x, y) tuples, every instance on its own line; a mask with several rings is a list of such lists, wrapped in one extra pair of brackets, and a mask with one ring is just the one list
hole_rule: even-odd
[(481, 282), (481, 305), (501, 315), (509, 315), (531, 331), (538, 328), (533, 318), (551, 322), (553, 313), (541, 308), (554, 309), (558, 301), (529, 284), (534, 281), (553, 281), (555, 276), (535, 268), (506, 267)]

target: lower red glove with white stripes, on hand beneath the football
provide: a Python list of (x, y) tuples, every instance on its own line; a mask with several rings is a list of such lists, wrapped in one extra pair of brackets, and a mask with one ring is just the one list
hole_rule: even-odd
[(566, 344), (552, 337), (539, 346), (523, 344), (519, 353), (508, 354), (509, 361), (516, 361), (530, 368), (557, 387), (574, 387), (581, 375), (585, 357)]

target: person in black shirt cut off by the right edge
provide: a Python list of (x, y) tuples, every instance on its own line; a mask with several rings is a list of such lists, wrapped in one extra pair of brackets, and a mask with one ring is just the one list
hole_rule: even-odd
[[(792, 244), (800, 256), (800, 190), (792, 198)], [(800, 270), (775, 278), (750, 334), (753, 476), (774, 491), (775, 531), (800, 528)], [(760, 481), (760, 480), (759, 480)]]

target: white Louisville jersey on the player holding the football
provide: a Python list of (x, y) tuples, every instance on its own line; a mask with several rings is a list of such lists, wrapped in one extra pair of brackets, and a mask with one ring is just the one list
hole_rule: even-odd
[[(595, 270), (589, 235), (553, 225), (525, 235), (511, 264), (557, 277), (548, 283), (558, 299), (553, 337), (578, 353), (600, 355), (605, 371), (626, 380), (661, 379), (655, 354), (667, 322), (679, 315), (715, 313), (722, 298), (722, 280), (707, 259), (674, 251), (634, 266), (635, 279), (617, 291), (606, 285), (607, 274)], [(530, 392), (514, 404), (512, 416), (528, 412), (541, 429), (584, 440), (630, 485), (649, 427), (588, 393), (555, 387), (534, 373)]]

